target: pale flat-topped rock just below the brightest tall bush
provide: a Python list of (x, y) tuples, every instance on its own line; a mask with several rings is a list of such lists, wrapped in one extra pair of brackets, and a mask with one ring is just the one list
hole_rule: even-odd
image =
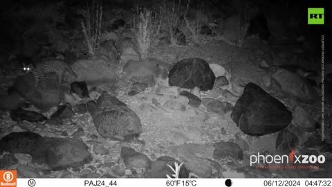
[(161, 70), (158, 65), (151, 60), (128, 60), (122, 71), (128, 73), (131, 78), (145, 78), (154, 77), (158, 75)]

